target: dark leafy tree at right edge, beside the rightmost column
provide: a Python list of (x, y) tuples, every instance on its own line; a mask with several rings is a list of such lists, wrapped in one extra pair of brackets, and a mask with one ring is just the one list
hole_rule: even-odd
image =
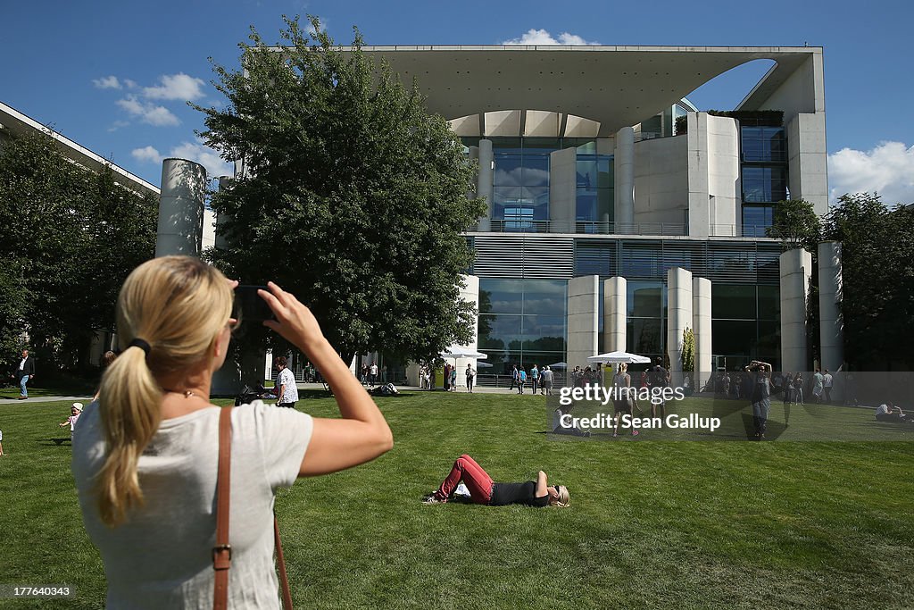
[(914, 367), (914, 207), (877, 193), (838, 198), (824, 238), (842, 242), (845, 358), (855, 369)]

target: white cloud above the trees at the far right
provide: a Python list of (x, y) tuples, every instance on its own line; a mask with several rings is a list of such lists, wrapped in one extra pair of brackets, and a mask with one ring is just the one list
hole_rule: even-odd
[(914, 202), (914, 146), (880, 142), (867, 151), (843, 148), (828, 155), (829, 199), (878, 192), (887, 205)]

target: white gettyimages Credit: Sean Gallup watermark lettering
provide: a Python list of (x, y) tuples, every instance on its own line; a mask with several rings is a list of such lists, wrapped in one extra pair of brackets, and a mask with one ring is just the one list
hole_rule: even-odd
[[(598, 430), (618, 432), (641, 430), (700, 430), (713, 433), (720, 427), (720, 418), (701, 416), (692, 412), (685, 415), (667, 413), (667, 407), (685, 400), (685, 388), (604, 388), (596, 383), (582, 387), (562, 388), (558, 392), (558, 409), (554, 414), (555, 433), (569, 433), (587, 436)], [(651, 414), (643, 413), (641, 405), (650, 405)], [(586, 413), (574, 414), (575, 411)], [(606, 409), (613, 412), (592, 412), (587, 407)], [(638, 411), (635, 415), (633, 411)], [(659, 416), (657, 413), (660, 413)]]

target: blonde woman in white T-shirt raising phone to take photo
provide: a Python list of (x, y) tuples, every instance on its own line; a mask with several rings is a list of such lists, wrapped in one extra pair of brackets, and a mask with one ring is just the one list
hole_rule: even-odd
[[(226, 359), (232, 290), (197, 259), (145, 262), (117, 304), (122, 353), (80, 417), (72, 470), (83, 522), (101, 552), (108, 607), (213, 605), (218, 416), (209, 401)], [(356, 466), (393, 444), (384, 417), (307, 307), (276, 284), (267, 321), (329, 383), (341, 419), (255, 401), (231, 412), (228, 607), (279, 608), (272, 508), (277, 487)], [(319, 527), (319, 525), (315, 525)]]

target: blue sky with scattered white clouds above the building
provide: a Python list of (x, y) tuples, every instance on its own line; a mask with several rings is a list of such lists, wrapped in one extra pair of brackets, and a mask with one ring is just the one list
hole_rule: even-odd
[[(238, 65), (250, 26), (278, 40), (282, 14), (320, 16), (336, 42), (359, 27), (368, 45), (584, 40), (604, 45), (824, 47), (829, 181), (833, 193), (879, 190), (914, 201), (914, 5), (828, 3), (366, 2), (162, 0), (5, 3), (6, 70), (0, 102), (50, 123), (155, 185), (163, 156), (222, 173), (197, 141), (202, 116), (186, 106), (223, 102), (207, 58)], [(733, 108), (763, 68), (746, 66), (690, 96)]]

